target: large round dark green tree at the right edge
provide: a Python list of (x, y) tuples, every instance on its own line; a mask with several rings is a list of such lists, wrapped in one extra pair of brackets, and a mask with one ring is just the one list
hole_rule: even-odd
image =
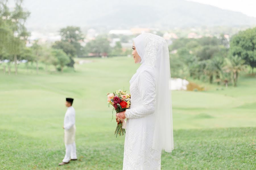
[(256, 27), (240, 31), (230, 42), (230, 54), (238, 55), (253, 69), (256, 67)]

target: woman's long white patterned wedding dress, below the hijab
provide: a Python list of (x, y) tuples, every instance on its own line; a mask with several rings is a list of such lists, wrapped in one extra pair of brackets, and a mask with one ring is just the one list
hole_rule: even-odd
[(152, 149), (154, 111), (156, 104), (155, 75), (152, 68), (144, 68), (130, 85), (131, 107), (127, 109), (124, 170), (161, 169), (161, 149)]

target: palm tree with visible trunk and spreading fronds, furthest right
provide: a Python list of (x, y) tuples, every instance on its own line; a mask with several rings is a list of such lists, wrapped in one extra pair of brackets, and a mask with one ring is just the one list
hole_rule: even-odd
[(226, 61), (227, 65), (224, 67), (224, 69), (226, 70), (226, 72), (232, 73), (232, 80), (234, 82), (234, 86), (237, 86), (238, 74), (241, 71), (245, 71), (245, 60), (236, 55), (227, 58)]

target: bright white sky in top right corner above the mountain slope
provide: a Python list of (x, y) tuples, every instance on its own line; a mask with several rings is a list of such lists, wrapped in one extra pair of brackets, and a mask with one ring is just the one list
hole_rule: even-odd
[(213, 5), (222, 9), (242, 12), (256, 17), (256, 0), (188, 0)]

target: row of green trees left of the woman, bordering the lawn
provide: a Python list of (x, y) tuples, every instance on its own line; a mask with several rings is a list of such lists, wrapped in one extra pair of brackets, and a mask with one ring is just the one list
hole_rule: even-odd
[(18, 61), (21, 60), (26, 62), (27, 68), (29, 63), (36, 63), (38, 73), (39, 63), (45, 64), (46, 72), (49, 65), (55, 66), (56, 71), (63, 71), (64, 66), (74, 67), (75, 57), (84, 57), (88, 54), (92, 56), (127, 54), (127, 51), (122, 50), (121, 42), (116, 42), (115, 47), (111, 48), (106, 35), (97, 36), (86, 46), (82, 46), (85, 36), (80, 27), (73, 26), (60, 29), (60, 41), (42, 45), (36, 40), (32, 46), (28, 47), (26, 42), (30, 33), (24, 24), (30, 12), (22, 8), (22, 1), (16, 1), (14, 10), (10, 10), (7, 2), (0, 2), (0, 65), (3, 60), (7, 61), (6, 64), (2, 64), (4, 73), (11, 74), (11, 66), (14, 63), (15, 74), (17, 74)]

